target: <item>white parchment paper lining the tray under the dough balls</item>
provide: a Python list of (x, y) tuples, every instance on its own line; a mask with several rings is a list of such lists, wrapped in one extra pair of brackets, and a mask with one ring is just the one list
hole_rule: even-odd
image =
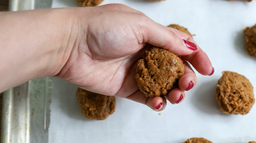
[[(242, 33), (256, 24), (255, 0), (104, 0), (101, 5), (108, 3), (128, 5), (163, 25), (187, 27), (196, 34), (194, 39), (208, 54), (215, 73), (203, 76), (195, 71), (196, 87), (185, 92), (182, 103), (168, 103), (161, 112), (117, 98), (116, 112), (103, 121), (86, 119), (75, 99), (77, 87), (53, 78), (50, 143), (182, 143), (191, 137), (214, 143), (256, 141), (256, 105), (247, 115), (227, 115), (217, 107), (214, 95), (222, 71), (240, 73), (256, 87), (256, 58), (245, 54)], [(53, 8), (57, 7), (78, 5), (75, 0), (53, 0)]]

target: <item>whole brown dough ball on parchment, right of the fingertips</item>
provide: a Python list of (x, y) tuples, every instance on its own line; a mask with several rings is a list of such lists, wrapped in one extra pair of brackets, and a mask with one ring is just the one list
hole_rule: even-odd
[(227, 114), (247, 114), (255, 101), (249, 80), (231, 71), (222, 72), (215, 95), (218, 106)]

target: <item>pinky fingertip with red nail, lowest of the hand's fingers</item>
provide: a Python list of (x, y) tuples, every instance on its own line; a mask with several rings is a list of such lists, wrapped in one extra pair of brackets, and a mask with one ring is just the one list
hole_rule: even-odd
[(150, 102), (150, 108), (154, 111), (162, 111), (166, 107), (166, 99), (164, 97), (154, 97)]

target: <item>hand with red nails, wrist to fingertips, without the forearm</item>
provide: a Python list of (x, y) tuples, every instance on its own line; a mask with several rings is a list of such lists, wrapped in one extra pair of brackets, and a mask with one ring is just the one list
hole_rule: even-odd
[(55, 76), (78, 87), (128, 98), (155, 111), (163, 110), (166, 99), (147, 98), (135, 80), (137, 61), (147, 49), (143, 48), (147, 43), (170, 50), (184, 59), (185, 73), (179, 81), (179, 88), (166, 96), (172, 104), (184, 99), (184, 91), (197, 83), (187, 61), (203, 75), (213, 71), (209, 58), (198, 45), (192, 50), (184, 44), (182, 39), (195, 43), (191, 37), (154, 22), (142, 12), (121, 4), (75, 8), (74, 11), (77, 14), (71, 35), (75, 39), (68, 42), (72, 50)]

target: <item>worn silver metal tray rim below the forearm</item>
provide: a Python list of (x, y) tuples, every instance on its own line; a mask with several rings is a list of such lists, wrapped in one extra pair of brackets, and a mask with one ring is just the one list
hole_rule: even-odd
[(47, 143), (52, 80), (39, 78), (3, 95), (2, 143)]

